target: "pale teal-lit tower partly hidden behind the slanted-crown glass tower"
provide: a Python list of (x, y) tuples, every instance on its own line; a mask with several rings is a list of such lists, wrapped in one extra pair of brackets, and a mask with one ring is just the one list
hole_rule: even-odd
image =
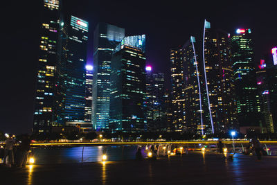
[(94, 31), (91, 117), (94, 130), (109, 129), (111, 56), (123, 37), (124, 28), (106, 23), (98, 24)]

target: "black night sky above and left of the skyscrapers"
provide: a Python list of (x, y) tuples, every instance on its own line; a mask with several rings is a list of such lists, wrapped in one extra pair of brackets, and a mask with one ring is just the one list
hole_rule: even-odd
[[(33, 127), (35, 75), (39, 50), (39, 1), (1, 4), (1, 118), (0, 130), (30, 133)], [(89, 21), (88, 62), (92, 35), (100, 21), (125, 28), (125, 35), (146, 35), (147, 64), (166, 73), (170, 87), (169, 49), (190, 35), (201, 44), (204, 19), (212, 28), (234, 33), (251, 28), (256, 62), (277, 46), (274, 1), (69, 1), (64, 11)], [(8, 4), (7, 4), (8, 3)]]

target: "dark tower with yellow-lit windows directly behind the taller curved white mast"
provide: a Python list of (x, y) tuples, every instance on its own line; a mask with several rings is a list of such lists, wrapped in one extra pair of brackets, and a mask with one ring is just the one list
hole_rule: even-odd
[(203, 49), (206, 70), (204, 82), (207, 85), (204, 97), (208, 94), (205, 105), (211, 109), (211, 112), (205, 114), (205, 122), (209, 123), (208, 128), (213, 124), (215, 133), (228, 132), (238, 128), (229, 34), (208, 26), (205, 28)]

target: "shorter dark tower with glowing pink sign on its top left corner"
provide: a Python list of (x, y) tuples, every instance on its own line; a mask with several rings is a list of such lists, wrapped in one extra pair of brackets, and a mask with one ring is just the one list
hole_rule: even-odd
[(163, 73), (153, 73), (152, 67), (146, 68), (146, 117), (147, 130), (150, 132), (167, 130), (166, 107), (164, 102), (165, 84)]

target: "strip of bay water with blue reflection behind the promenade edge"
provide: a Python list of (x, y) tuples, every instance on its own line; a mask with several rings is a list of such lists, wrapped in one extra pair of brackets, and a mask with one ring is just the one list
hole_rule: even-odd
[[(84, 146), (83, 162), (102, 161), (105, 150), (107, 161), (135, 159), (138, 146)], [(34, 148), (36, 164), (64, 164), (82, 162), (82, 146), (71, 148)], [(142, 153), (144, 150), (142, 150)]]

